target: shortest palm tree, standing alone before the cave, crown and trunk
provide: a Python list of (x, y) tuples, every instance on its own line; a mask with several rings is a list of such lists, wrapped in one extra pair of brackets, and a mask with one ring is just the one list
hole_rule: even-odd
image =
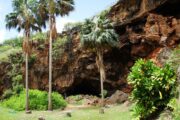
[[(115, 47), (118, 44), (118, 35), (113, 29), (113, 24), (104, 16), (87, 19), (82, 25), (81, 44), (84, 48), (96, 51), (96, 64), (100, 72), (101, 85), (101, 107), (104, 106), (103, 82), (106, 80), (105, 67), (103, 63), (103, 52), (105, 49)], [(104, 110), (101, 108), (101, 113)]]

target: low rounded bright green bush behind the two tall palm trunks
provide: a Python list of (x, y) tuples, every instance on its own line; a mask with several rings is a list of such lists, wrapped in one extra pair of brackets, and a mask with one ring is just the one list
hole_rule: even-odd
[[(7, 100), (2, 101), (1, 105), (12, 108), (17, 111), (25, 110), (25, 91), (19, 95), (13, 95)], [(64, 108), (67, 103), (63, 97), (56, 93), (52, 93), (53, 109)], [(48, 94), (45, 91), (30, 90), (29, 91), (29, 107), (31, 110), (47, 110), (48, 108)]]

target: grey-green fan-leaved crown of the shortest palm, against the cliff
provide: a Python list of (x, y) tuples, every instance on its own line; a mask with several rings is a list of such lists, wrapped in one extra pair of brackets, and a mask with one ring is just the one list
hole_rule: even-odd
[(81, 44), (85, 48), (115, 47), (118, 40), (112, 22), (105, 17), (87, 19), (82, 25)]

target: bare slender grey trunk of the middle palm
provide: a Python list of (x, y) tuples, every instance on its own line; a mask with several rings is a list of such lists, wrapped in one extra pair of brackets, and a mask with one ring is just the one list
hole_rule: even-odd
[(49, 16), (49, 95), (48, 95), (48, 110), (52, 110), (52, 15)]

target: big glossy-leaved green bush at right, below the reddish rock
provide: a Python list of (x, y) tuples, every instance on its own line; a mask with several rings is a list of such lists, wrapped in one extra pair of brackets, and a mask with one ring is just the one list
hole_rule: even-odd
[(140, 59), (132, 67), (128, 82), (134, 87), (131, 98), (137, 119), (145, 119), (167, 106), (175, 95), (176, 76), (169, 65), (160, 68), (150, 60)]

